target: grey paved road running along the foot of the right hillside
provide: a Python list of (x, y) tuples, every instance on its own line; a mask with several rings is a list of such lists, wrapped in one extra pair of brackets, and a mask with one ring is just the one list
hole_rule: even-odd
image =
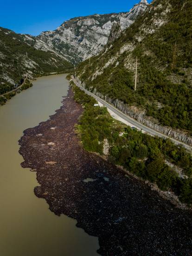
[(133, 118), (131, 118), (128, 115), (125, 115), (124, 113), (122, 113), (119, 109), (116, 109), (113, 105), (109, 104), (108, 102), (102, 100), (101, 98), (99, 98), (98, 96), (96, 96), (95, 94), (91, 93), (90, 91), (84, 89), (79, 83), (77, 83), (77, 81), (75, 80), (74, 77), (72, 77), (73, 82), (84, 92), (86, 92), (88, 95), (94, 97), (98, 102), (101, 102), (105, 107), (107, 107), (108, 109), (112, 110), (115, 114), (117, 114), (118, 116), (120, 116), (122, 119), (124, 119), (125, 121), (131, 123), (134, 127), (141, 129), (145, 132), (147, 132), (147, 134), (153, 135), (153, 136), (158, 136), (164, 139), (170, 139), (171, 141), (173, 141), (175, 144), (177, 145), (182, 145), (183, 147), (192, 150), (192, 147), (181, 142), (181, 141), (177, 141), (165, 134), (161, 134), (157, 131), (154, 131), (153, 129), (141, 124), (140, 122), (137, 122), (136, 120), (134, 120)]

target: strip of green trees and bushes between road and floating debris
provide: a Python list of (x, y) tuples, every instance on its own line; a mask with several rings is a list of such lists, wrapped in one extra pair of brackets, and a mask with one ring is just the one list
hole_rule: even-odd
[[(73, 86), (74, 99), (84, 106), (77, 131), (83, 147), (103, 154), (103, 140), (109, 141), (109, 161), (123, 166), (161, 190), (171, 190), (182, 202), (192, 204), (192, 155), (170, 140), (151, 137), (115, 121), (106, 108), (94, 107), (95, 99)], [(166, 160), (180, 168), (188, 178), (181, 178)]]

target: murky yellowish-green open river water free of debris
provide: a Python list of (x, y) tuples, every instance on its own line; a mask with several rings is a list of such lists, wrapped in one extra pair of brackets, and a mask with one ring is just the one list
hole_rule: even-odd
[(64, 75), (41, 77), (0, 107), (0, 255), (98, 256), (98, 239), (58, 217), (34, 195), (36, 173), (23, 169), (18, 140), (26, 128), (48, 119), (67, 95)]

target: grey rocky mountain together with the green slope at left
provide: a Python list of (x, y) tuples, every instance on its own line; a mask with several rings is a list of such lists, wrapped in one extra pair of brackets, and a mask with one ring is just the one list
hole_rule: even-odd
[(133, 24), (147, 6), (147, 1), (141, 0), (127, 13), (70, 19), (55, 31), (37, 37), (0, 27), (0, 94), (12, 90), (25, 76), (69, 70), (70, 63), (95, 56)]

